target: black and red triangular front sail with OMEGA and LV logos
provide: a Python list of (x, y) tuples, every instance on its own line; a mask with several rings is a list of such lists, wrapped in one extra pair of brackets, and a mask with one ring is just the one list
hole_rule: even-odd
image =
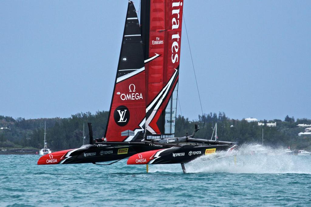
[[(106, 141), (122, 142), (143, 139), (146, 117), (145, 75), (140, 26), (133, 2), (129, 2), (118, 71), (104, 136)], [(121, 136), (121, 133), (124, 136)]]

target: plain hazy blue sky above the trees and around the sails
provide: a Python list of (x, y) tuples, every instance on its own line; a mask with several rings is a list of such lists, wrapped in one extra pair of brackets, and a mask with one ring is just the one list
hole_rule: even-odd
[[(128, 0), (0, 1), (0, 115), (109, 110)], [(139, 1), (134, 1), (138, 10)], [(184, 0), (177, 114), (311, 119), (311, 1)]]

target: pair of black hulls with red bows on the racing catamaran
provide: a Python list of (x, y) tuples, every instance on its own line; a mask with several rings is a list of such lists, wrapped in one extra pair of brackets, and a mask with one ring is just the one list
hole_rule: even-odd
[[(165, 140), (161, 140), (166, 142)], [(210, 141), (207, 141), (210, 143)], [(187, 163), (202, 155), (228, 150), (234, 145), (201, 143), (159, 143), (159, 142), (104, 142), (105, 144), (83, 145), (73, 150), (53, 152), (42, 156), (38, 164), (81, 164), (112, 162), (130, 157), (128, 164), (175, 164)], [(146, 156), (147, 162), (136, 162), (136, 157)], [(133, 158), (134, 157), (134, 158)], [(134, 161), (130, 161), (131, 159)], [(141, 157), (138, 157), (141, 158)], [(152, 159), (151, 159), (152, 158)]]

